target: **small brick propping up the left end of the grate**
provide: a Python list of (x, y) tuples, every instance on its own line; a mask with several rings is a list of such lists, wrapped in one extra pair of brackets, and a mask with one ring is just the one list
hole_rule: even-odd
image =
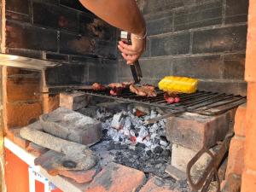
[(88, 105), (88, 96), (84, 93), (61, 93), (60, 107), (69, 108), (71, 110), (79, 110)]

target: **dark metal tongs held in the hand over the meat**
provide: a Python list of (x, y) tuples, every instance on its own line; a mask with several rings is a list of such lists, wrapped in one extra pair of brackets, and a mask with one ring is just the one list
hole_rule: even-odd
[[(131, 34), (129, 32), (121, 31), (120, 38), (121, 41), (125, 42), (125, 44), (131, 44)], [(143, 78), (143, 73), (139, 61), (135, 61), (133, 64), (130, 65), (130, 67), (134, 83), (140, 83), (141, 79)]]

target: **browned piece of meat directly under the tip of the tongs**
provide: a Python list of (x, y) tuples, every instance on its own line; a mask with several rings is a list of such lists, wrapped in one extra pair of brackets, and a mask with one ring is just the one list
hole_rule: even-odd
[(130, 90), (131, 92), (137, 94), (138, 96), (148, 96), (148, 97), (156, 96), (154, 86), (152, 85), (137, 86), (137, 85), (131, 84)]

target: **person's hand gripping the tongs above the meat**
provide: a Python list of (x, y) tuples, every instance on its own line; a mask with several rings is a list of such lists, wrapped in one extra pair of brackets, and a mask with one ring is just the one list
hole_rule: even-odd
[(121, 51), (121, 55), (126, 60), (126, 63), (131, 65), (143, 55), (146, 48), (146, 38), (137, 38), (136, 35), (131, 33), (131, 44), (125, 44), (125, 42), (119, 41), (118, 48)]

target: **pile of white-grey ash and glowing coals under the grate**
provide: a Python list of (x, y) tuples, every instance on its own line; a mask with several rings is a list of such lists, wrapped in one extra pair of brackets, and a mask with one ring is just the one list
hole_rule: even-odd
[(166, 139), (166, 120), (144, 125), (145, 120), (157, 116), (160, 114), (155, 110), (146, 114), (136, 108), (119, 112), (99, 109), (95, 119), (102, 121), (103, 139), (91, 149), (101, 151), (102, 160), (111, 156), (111, 160), (124, 166), (167, 178), (165, 170), (171, 161), (172, 145)]

